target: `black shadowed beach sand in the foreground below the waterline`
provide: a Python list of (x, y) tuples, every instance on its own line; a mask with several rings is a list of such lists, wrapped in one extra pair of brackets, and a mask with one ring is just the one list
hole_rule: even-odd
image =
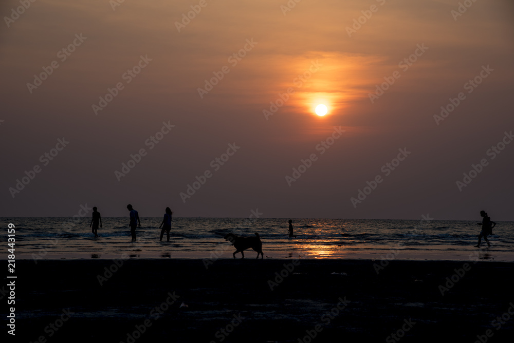
[[(145, 319), (151, 326), (136, 342), (298, 342), (317, 324), (314, 342), (383, 342), (404, 319), (415, 324), (402, 342), (474, 342), (488, 329), (491, 342), (514, 336), (512, 316), (500, 330), (491, 325), (514, 302), (512, 263), (469, 262), (444, 296), (439, 284), (466, 262), (391, 261), (377, 275), (371, 260), (300, 260), (299, 274), (271, 291), (284, 263), (291, 260), (220, 259), (206, 269), (200, 259), (129, 259), (100, 286), (112, 260), (17, 261), (16, 341), (126, 342)], [(151, 311), (169, 292), (180, 297), (156, 319)], [(350, 302), (328, 323), (322, 316), (340, 297)], [(74, 314), (49, 337), (45, 327), (68, 308)], [(216, 335), (234, 314), (244, 319)]]

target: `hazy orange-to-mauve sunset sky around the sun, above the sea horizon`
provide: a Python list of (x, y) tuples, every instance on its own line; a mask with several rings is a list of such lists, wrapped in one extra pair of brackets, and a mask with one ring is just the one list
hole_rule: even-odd
[[(9, 27), (4, 18), (3, 216), (67, 216), (86, 202), (118, 216), (131, 202), (142, 216), (170, 206), (178, 216), (247, 217), (258, 207), (266, 217), (468, 219), (487, 207), (512, 220), (514, 145), (468, 187), (455, 185), (514, 129), (510, 2), (475, 2), (454, 20), (453, 0), (303, 0), (285, 15), (285, 0), (207, 0), (178, 32), (182, 13), (198, 4), (125, 0), (113, 10), (107, 0), (38, 0)], [(17, 6), (3, 2), (0, 13)], [(371, 6), (349, 37), (346, 28)], [(58, 52), (81, 33), (87, 38), (61, 61)], [(248, 49), (247, 40), (256, 44)], [(229, 59), (245, 45), (240, 61)], [(400, 67), (418, 45), (428, 49)], [(127, 83), (123, 74), (141, 55), (151, 61)], [(52, 61), (59, 67), (29, 92)], [(306, 78), (313, 63), (319, 68)], [(487, 65), (494, 71), (468, 94), (464, 84)], [(198, 88), (224, 67), (200, 98)], [(369, 94), (395, 71), (399, 78), (372, 103)], [(119, 82), (123, 89), (96, 115), (92, 105)], [(288, 88), (266, 119), (263, 110)], [(433, 116), (459, 92), (466, 100), (436, 125)], [(329, 108), (324, 117), (314, 114), (319, 102)], [(148, 149), (163, 121), (175, 127), (118, 182), (115, 170)], [(289, 187), (285, 176), (334, 126), (344, 136)], [(9, 188), (62, 137), (69, 147), (13, 198)], [(241, 150), (181, 201), (233, 142)], [(354, 208), (350, 199), (403, 147), (412, 155)]]

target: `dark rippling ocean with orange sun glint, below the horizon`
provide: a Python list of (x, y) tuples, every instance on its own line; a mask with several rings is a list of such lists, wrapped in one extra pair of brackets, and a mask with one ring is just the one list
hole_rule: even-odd
[[(161, 218), (141, 218), (131, 242), (128, 217), (102, 218), (93, 238), (90, 218), (0, 218), (15, 225), (16, 259), (232, 258), (228, 233), (259, 233), (264, 258), (332, 258), (379, 260), (514, 261), (514, 222), (497, 222), (491, 247), (473, 245), (481, 227), (476, 221), (294, 219), (296, 238), (288, 237), (288, 218), (173, 218), (170, 242), (159, 242)], [(2, 235), (7, 246), (7, 235)], [(5, 250), (4, 250), (5, 251)], [(252, 250), (245, 258), (255, 258)], [(7, 252), (1, 258), (7, 259)], [(241, 254), (236, 255), (237, 258)]]

